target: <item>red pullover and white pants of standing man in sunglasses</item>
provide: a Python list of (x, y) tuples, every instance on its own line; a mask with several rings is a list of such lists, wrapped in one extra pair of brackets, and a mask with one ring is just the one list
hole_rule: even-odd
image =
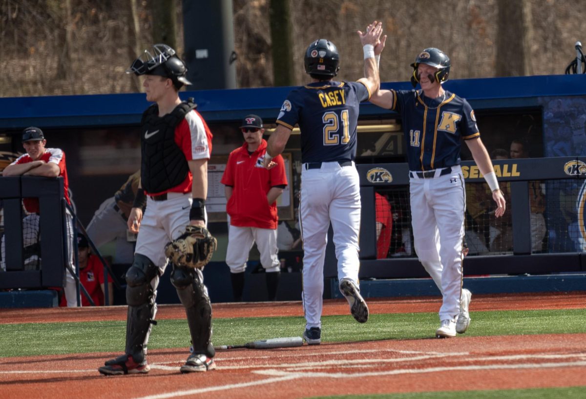
[(277, 203), (267, 202), (272, 187), (287, 185), (287, 174), (282, 156), (272, 159), (277, 166), (263, 167), (267, 150), (266, 140), (258, 149), (248, 154), (248, 144), (230, 153), (226, 170), (220, 183), (232, 187), (232, 195), (226, 205), (230, 216), (226, 264), (232, 273), (246, 269), (248, 252), (254, 242), (260, 253), (260, 262), (266, 271), (279, 271), (277, 253)]

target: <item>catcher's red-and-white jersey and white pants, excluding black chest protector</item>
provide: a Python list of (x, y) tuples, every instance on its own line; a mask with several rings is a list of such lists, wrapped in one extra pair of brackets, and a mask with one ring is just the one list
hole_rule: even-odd
[[(182, 149), (185, 159), (209, 159), (212, 154), (212, 133), (207, 123), (195, 110), (175, 128), (175, 143)], [(189, 225), (189, 209), (192, 204), (192, 174), (182, 183), (163, 192), (147, 192), (147, 195), (167, 193), (166, 201), (153, 201), (147, 197), (147, 209), (141, 221), (135, 253), (147, 256), (164, 273), (167, 259), (163, 247), (177, 239)]]

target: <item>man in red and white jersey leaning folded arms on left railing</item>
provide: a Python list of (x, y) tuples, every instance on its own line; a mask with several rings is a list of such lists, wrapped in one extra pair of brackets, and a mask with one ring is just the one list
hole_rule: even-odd
[[(22, 132), (22, 146), (26, 153), (22, 154), (13, 163), (4, 168), (4, 176), (44, 176), (63, 177), (64, 195), (67, 204), (69, 201), (69, 180), (65, 164), (65, 153), (59, 148), (46, 148), (47, 140), (43, 131), (34, 126), (26, 128)], [(26, 212), (29, 213), (23, 223), (23, 245), (30, 246), (38, 242), (39, 234), (39, 199), (23, 198)], [(69, 249), (69, 264), (73, 266), (73, 220), (67, 211), (67, 248)], [(2, 253), (4, 253), (4, 240), (2, 240)], [(4, 259), (4, 257), (3, 257)], [(77, 306), (76, 281), (69, 271), (65, 273), (64, 284), (67, 306)]]

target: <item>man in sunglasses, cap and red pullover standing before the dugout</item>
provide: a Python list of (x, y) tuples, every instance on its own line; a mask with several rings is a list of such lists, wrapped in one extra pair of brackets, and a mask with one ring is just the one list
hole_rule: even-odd
[(230, 153), (221, 180), (230, 216), (226, 264), (230, 267), (234, 301), (240, 302), (248, 252), (256, 242), (266, 272), (268, 300), (274, 301), (281, 270), (277, 256), (277, 198), (287, 187), (285, 164), (279, 155), (273, 159), (275, 167), (263, 167), (267, 142), (260, 116), (247, 115), (240, 129), (244, 144)]

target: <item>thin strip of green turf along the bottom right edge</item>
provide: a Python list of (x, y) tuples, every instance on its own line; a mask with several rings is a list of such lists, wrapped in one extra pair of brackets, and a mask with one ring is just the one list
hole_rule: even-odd
[(313, 399), (583, 399), (586, 386), (490, 391), (413, 392), (401, 394), (369, 394), (319, 396)]

